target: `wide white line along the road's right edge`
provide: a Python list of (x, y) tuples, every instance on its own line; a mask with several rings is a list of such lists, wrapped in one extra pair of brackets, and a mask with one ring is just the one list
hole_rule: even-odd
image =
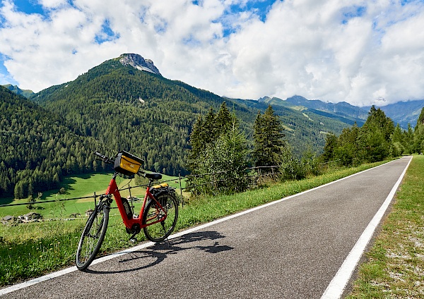
[(404, 172), (401, 174), (398, 181), (391, 189), (391, 192), (387, 196), (386, 200), (384, 200), (382, 206), (379, 208), (375, 216), (370, 221), (370, 224), (368, 224), (367, 228), (365, 228), (365, 231), (363, 231), (355, 246), (353, 246), (351, 252), (349, 252), (349, 255), (346, 257), (346, 260), (344, 260), (343, 264), (341, 264), (341, 267), (338, 269), (336, 275), (331, 280), (329, 286), (327, 286), (326, 290), (324, 291), (324, 294), (322, 294), (321, 299), (338, 299), (341, 298), (341, 295), (343, 295), (343, 291), (346, 288), (346, 284), (348, 283), (349, 279), (351, 279), (353, 271), (355, 271), (356, 265), (358, 264), (360, 257), (363, 255), (367, 244), (370, 242), (370, 239), (374, 234), (375, 228), (377, 228), (379, 222), (382, 220), (382, 217), (384, 216), (387, 207), (389, 207), (397, 188), (399, 188), (399, 185), (401, 184), (401, 181), (405, 176), (409, 164), (411, 164), (411, 161), (412, 157), (410, 157), (408, 165), (406, 165)]

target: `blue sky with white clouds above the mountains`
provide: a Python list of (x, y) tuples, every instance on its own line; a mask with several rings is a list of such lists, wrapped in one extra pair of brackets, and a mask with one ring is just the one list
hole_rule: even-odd
[(39, 92), (124, 53), (220, 96), (424, 99), (424, 0), (0, 0), (0, 84)]

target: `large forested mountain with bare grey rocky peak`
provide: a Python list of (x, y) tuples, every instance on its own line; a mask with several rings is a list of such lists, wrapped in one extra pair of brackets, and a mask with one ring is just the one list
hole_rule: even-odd
[[(173, 175), (187, 173), (189, 133), (197, 116), (206, 115), (210, 106), (218, 111), (220, 104), (228, 101), (250, 138), (258, 109), (264, 111), (268, 106), (257, 101), (249, 106), (246, 101), (225, 99), (168, 80), (153, 66), (138, 54), (123, 54), (31, 99), (64, 118), (75, 133), (105, 144), (108, 153), (128, 150), (146, 161), (146, 169)], [(298, 156), (308, 145), (321, 152), (326, 132), (341, 133), (347, 126), (312, 112), (281, 107), (276, 113), (281, 115), (288, 141)]]

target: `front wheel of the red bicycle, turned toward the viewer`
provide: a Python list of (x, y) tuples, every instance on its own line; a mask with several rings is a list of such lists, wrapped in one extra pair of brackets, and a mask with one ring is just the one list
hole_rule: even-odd
[(109, 207), (100, 204), (88, 217), (76, 250), (76, 267), (84, 271), (98, 254), (109, 223)]

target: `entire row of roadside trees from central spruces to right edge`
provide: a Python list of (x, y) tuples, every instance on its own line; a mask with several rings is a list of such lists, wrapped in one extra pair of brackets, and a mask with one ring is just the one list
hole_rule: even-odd
[[(324, 153), (305, 151), (296, 159), (285, 139), (281, 120), (272, 106), (254, 121), (253, 145), (249, 147), (240, 130), (237, 117), (223, 102), (218, 113), (209, 109), (199, 116), (190, 135), (189, 169), (194, 176), (187, 183), (194, 194), (235, 193), (246, 190), (249, 181), (246, 170), (255, 166), (261, 173), (273, 172), (282, 180), (301, 179), (317, 175), (319, 165), (336, 162), (341, 166), (356, 166), (382, 161), (401, 154), (424, 152), (424, 108), (415, 130), (402, 131), (381, 109), (370, 109), (367, 121), (359, 128), (354, 124), (343, 129), (338, 137), (329, 134)], [(271, 167), (274, 166), (274, 167)], [(277, 166), (277, 167), (275, 167)]]

